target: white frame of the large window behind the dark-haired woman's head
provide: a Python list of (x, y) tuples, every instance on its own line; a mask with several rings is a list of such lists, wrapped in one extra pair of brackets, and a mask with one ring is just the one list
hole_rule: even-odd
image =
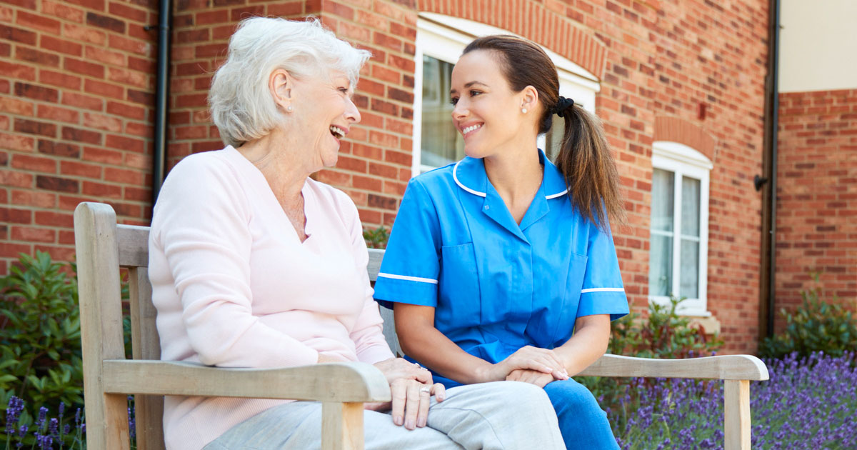
[[(434, 166), (422, 165), (422, 127), (423, 127), (423, 55), (455, 63), (464, 47), (479, 36), (488, 34), (512, 34), (507, 30), (491, 27), (484, 23), (468, 21), (450, 15), (420, 13), (417, 18), (417, 51), (414, 54), (416, 68), (414, 73), (414, 140), (411, 163), (411, 176), (416, 177), (422, 171), (434, 169)], [(584, 109), (595, 112), (595, 96), (601, 85), (595, 75), (572, 63), (565, 57), (545, 49), (554, 61), (560, 77), (560, 95), (574, 99)], [(452, 120), (452, 118), (450, 118)], [(539, 136), (538, 146), (544, 148), (544, 135)]]

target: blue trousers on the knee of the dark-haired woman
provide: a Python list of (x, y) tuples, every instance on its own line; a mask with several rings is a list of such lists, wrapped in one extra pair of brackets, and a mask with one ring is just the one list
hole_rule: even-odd
[(567, 450), (619, 450), (607, 413), (589, 389), (569, 378), (544, 387), (560, 422)]

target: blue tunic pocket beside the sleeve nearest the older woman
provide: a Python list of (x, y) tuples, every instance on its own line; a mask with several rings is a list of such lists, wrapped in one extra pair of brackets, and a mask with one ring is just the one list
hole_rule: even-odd
[(473, 243), (440, 248), (438, 307), (434, 323), (440, 332), (479, 325), (479, 273)]

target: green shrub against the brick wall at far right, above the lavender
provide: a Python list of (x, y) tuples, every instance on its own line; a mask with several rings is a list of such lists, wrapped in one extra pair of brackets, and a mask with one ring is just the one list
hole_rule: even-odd
[[(813, 273), (818, 282), (818, 273)], [(813, 351), (842, 356), (845, 351), (857, 351), (857, 318), (842, 308), (836, 296), (830, 303), (820, 299), (821, 289), (800, 291), (803, 301), (794, 313), (780, 314), (786, 321), (783, 333), (765, 338), (759, 345), (763, 357), (780, 358), (792, 352), (808, 357)]]

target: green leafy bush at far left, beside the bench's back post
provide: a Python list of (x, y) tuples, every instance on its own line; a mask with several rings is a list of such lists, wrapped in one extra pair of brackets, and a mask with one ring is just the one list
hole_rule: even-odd
[(38, 251), (0, 278), (0, 407), (12, 395), (55, 411), (83, 406), (77, 281), (65, 268)]

